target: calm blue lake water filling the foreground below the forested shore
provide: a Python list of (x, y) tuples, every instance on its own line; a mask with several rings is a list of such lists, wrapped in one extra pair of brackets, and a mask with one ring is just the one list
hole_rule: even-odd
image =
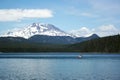
[(120, 55), (78, 55), (0, 54), (0, 80), (120, 80)]

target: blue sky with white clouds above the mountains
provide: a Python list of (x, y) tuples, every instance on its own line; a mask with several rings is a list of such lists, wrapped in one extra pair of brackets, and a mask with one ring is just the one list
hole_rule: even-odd
[(0, 0), (0, 33), (34, 22), (80, 36), (118, 34), (120, 0)]

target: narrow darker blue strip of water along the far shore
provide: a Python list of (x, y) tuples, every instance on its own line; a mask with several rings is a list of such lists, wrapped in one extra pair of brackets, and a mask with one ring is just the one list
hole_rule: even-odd
[[(79, 57), (81, 56), (81, 57)], [(120, 58), (120, 54), (108, 54), (108, 53), (61, 53), (61, 52), (51, 52), (51, 53), (1, 53), (0, 58), (35, 58), (35, 59), (81, 59), (81, 58)]]

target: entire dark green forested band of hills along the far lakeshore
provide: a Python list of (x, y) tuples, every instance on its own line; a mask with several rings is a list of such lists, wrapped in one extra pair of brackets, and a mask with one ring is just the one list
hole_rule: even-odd
[(0, 52), (115, 52), (120, 53), (120, 35), (75, 44), (46, 44), (24, 38), (1, 37)]

